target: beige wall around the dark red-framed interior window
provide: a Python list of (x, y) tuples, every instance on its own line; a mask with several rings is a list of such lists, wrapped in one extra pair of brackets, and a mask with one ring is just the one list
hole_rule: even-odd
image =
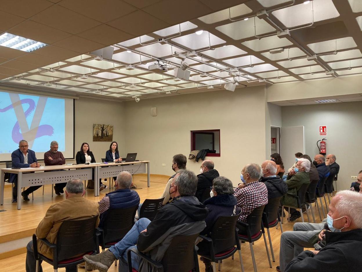
[[(156, 117), (151, 107), (157, 107)], [(188, 157), (191, 130), (220, 129), (221, 157), (210, 159), (234, 184), (245, 164), (265, 160), (264, 86), (130, 101), (126, 120), (126, 152), (150, 160), (153, 174), (171, 176), (173, 155)], [(188, 160), (187, 168), (199, 173), (200, 165)]]

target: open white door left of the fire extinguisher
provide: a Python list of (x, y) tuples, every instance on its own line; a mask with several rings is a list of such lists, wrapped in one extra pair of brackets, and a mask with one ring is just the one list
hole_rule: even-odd
[(306, 153), (304, 126), (280, 128), (280, 156), (282, 157), (285, 171), (288, 171), (294, 162), (294, 154)]

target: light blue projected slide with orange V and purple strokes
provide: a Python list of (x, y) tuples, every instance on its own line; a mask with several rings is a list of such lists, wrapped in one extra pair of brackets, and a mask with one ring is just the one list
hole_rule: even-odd
[(0, 153), (12, 153), (19, 141), (35, 152), (49, 150), (58, 141), (65, 149), (65, 101), (61, 98), (0, 92)]

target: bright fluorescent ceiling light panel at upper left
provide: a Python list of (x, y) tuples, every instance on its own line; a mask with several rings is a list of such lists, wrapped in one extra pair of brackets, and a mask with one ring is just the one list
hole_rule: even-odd
[(0, 36), (0, 45), (25, 52), (31, 52), (46, 46), (43, 42), (37, 42), (28, 38), (16, 36), (10, 33), (4, 33)]

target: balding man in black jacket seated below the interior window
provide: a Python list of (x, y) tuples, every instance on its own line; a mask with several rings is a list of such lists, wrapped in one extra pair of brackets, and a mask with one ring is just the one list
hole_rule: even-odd
[(202, 201), (202, 194), (204, 193), (205, 189), (209, 189), (212, 186), (212, 181), (214, 178), (219, 177), (219, 172), (214, 169), (214, 162), (211, 160), (205, 160), (202, 162), (200, 166), (201, 174), (197, 175), (197, 190), (195, 197), (199, 201)]

